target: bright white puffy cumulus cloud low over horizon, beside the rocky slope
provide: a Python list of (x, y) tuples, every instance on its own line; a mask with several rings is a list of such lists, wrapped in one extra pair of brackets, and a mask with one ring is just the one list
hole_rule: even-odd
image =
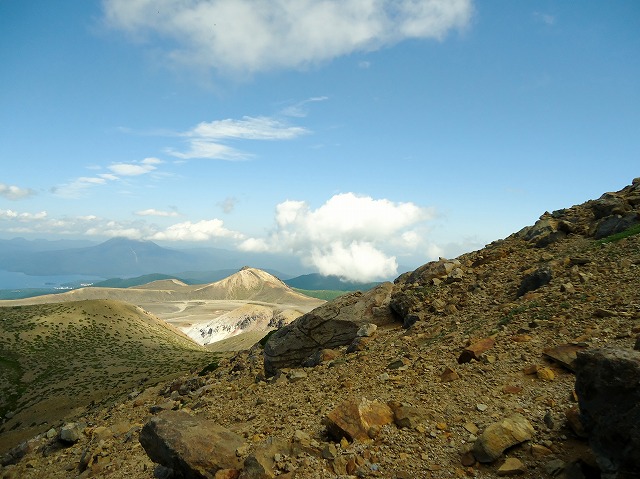
[(421, 247), (416, 232), (434, 211), (413, 203), (395, 203), (354, 193), (338, 194), (317, 209), (304, 201), (276, 206), (276, 228), (266, 239), (248, 238), (245, 251), (287, 251), (325, 275), (354, 281), (389, 278), (397, 273), (396, 256), (387, 252)]

